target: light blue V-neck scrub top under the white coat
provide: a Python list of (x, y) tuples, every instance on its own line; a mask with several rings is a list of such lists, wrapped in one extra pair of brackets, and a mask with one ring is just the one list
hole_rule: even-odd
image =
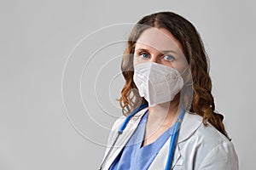
[(143, 115), (137, 129), (131, 135), (131, 139), (129, 139), (128, 143), (119, 153), (119, 156), (113, 161), (109, 168), (110, 170), (148, 169), (161, 147), (166, 143), (166, 140), (172, 136), (172, 127), (170, 127), (154, 143), (142, 147), (147, 118), (148, 111)]

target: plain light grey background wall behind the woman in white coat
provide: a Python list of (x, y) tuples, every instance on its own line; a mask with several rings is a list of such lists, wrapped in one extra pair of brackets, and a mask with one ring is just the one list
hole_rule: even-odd
[[(201, 33), (217, 110), (241, 169), (253, 169), (256, 14), (248, 0), (1, 1), (0, 169), (96, 169), (121, 116), (115, 99), (125, 45), (116, 41), (131, 27), (90, 33), (162, 10), (183, 15)], [(108, 42), (116, 43), (104, 47)]]

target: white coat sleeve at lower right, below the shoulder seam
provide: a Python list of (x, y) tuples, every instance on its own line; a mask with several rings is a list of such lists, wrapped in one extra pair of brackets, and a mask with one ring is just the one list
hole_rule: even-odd
[(231, 142), (218, 144), (201, 162), (200, 170), (238, 170), (238, 157)]

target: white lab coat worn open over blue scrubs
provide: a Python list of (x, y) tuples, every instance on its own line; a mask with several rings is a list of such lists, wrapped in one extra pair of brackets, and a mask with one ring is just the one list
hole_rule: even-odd
[[(136, 130), (140, 119), (148, 108), (139, 111), (133, 116), (125, 127), (124, 133), (119, 136), (113, 150), (110, 152), (107, 161), (102, 169), (108, 169), (116, 156), (130, 139), (132, 133)], [(108, 138), (108, 147), (105, 153), (108, 153), (109, 147), (117, 136), (119, 127), (125, 120), (121, 116), (114, 124)], [(170, 139), (160, 149), (158, 155), (154, 158), (148, 169), (165, 169), (169, 151)], [(105, 157), (104, 156), (104, 157)], [(209, 124), (205, 127), (202, 123), (202, 117), (185, 113), (183, 122), (179, 131), (176, 150), (172, 159), (173, 170), (237, 170), (238, 157), (233, 144), (222, 133)]]

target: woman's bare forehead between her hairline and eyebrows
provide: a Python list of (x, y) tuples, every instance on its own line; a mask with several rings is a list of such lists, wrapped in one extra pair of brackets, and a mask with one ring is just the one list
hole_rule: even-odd
[(137, 39), (136, 48), (150, 47), (159, 51), (172, 50), (183, 54), (183, 47), (165, 28), (151, 27)]

